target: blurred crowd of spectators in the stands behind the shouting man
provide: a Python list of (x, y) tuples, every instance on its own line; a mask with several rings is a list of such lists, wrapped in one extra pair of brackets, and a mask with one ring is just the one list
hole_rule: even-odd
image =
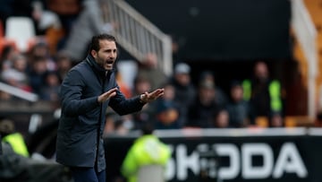
[[(34, 22), (37, 33), (27, 51), (21, 51), (9, 39), (1, 42), (1, 82), (36, 93), (40, 100), (59, 103), (60, 84), (72, 66), (86, 55), (89, 38), (114, 29), (113, 23), (104, 22), (100, 16), (104, 2), (2, 3), (0, 9), (6, 10), (0, 17), (3, 31), (9, 17), (26, 16)], [(24, 11), (15, 8), (16, 4)], [(161, 87), (165, 88), (165, 95), (132, 115), (118, 116), (112, 109), (106, 110), (106, 134), (126, 134), (140, 129), (143, 121), (153, 122), (156, 129), (252, 127), (258, 126), (260, 118), (266, 120), (267, 126), (284, 126), (283, 85), (270, 79), (265, 62), (254, 65), (253, 77), (232, 80), (230, 91), (223, 91), (216, 84), (212, 70), (199, 73), (198, 82), (191, 82), (191, 66), (184, 61), (176, 61), (174, 74), (165, 75), (153, 53), (137, 61), (135, 67), (131, 83), (124, 82), (126, 75), (116, 67), (117, 82), (126, 97)], [(0, 91), (0, 100), (19, 99)]]

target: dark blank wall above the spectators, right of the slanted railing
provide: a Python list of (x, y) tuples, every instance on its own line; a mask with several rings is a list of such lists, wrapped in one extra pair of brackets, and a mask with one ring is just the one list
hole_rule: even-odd
[(289, 57), (289, 0), (127, 0), (174, 37), (180, 59)]

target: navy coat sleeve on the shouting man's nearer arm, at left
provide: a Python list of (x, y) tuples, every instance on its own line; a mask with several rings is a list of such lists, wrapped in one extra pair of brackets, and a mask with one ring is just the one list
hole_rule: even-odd
[(66, 116), (81, 115), (99, 106), (97, 96), (82, 99), (85, 87), (84, 79), (77, 70), (71, 70), (66, 75), (60, 91), (62, 109)]

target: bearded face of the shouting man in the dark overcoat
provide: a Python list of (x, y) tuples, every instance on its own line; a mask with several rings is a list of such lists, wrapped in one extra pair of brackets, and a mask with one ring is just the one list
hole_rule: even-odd
[(106, 71), (112, 70), (117, 56), (116, 44), (114, 41), (107, 39), (99, 40), (98, 52), (92, 50), (92, 56), (94, 56), (98, 65), (102, 66)]

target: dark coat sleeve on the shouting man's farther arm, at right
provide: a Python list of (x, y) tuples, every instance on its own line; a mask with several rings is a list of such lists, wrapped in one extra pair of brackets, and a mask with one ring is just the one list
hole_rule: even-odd
[(118, 89), (116, 95), (111, 98), (109, 106), (113, 108), (117, 114), (127, 115), (140, 111), (144, 104), (140, 102), (140, 96), (126, 99), (120, 89)]

